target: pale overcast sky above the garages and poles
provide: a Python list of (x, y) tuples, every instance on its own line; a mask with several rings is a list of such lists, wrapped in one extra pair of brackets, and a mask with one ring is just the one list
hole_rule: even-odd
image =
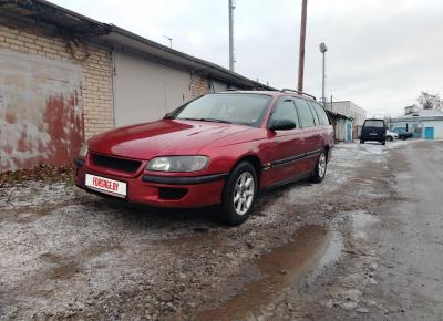
[[(228, 66), (228, 0), (52, 0)], [(277, 6), (278, 3), (278, 6)], [(236, 72), (297, 87), (301, 0), (236, 0)], [(420, 91), (443, 93), (442, 0), (309, 0), (305, 91), (351, 100), (370, 115), (403, 112)]]

